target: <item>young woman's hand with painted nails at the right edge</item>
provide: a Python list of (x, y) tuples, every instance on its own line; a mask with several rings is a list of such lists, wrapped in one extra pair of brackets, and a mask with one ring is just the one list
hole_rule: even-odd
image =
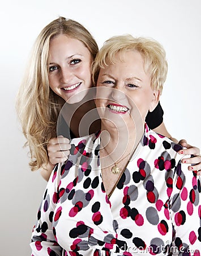
[(179, 154), (194, 155), (193, 158), (183, 158), (182, 163), (195, 164), (188, 167), (189, 171), (198, 171), (197, 175), (201, 175), (201, 156), (199, 148), (187, 144), (185, 139), (181, 139), (181, 141), (179, 141), (178, 143), (181, 144), (183, 147), (186, 147), (186, 149), (179, 150)]

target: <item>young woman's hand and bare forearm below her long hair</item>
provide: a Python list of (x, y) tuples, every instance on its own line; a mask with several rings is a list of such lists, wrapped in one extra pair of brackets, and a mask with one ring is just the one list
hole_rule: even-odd
[(46, 181), (49, 180), (55, 164), (65, 162), (65, 160), (67, 160), (70, 154), (70, 148), (70, 141), (67, 138), (59, 136), (57, 138), (50, 139), (48, 144), (49, 162), (40, 170), (41, 176)]

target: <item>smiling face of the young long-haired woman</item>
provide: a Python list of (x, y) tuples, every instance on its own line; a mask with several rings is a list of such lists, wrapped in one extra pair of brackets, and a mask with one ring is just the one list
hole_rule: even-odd
[[(67, 35), (58, 35), (49, 45), (49, 86), (63, 100), (69, 103), (81, 101), (92, 87), (92, 56), (87, 47), (78, 39)], [(82, 92), (80, 94), (80, 92)]]

